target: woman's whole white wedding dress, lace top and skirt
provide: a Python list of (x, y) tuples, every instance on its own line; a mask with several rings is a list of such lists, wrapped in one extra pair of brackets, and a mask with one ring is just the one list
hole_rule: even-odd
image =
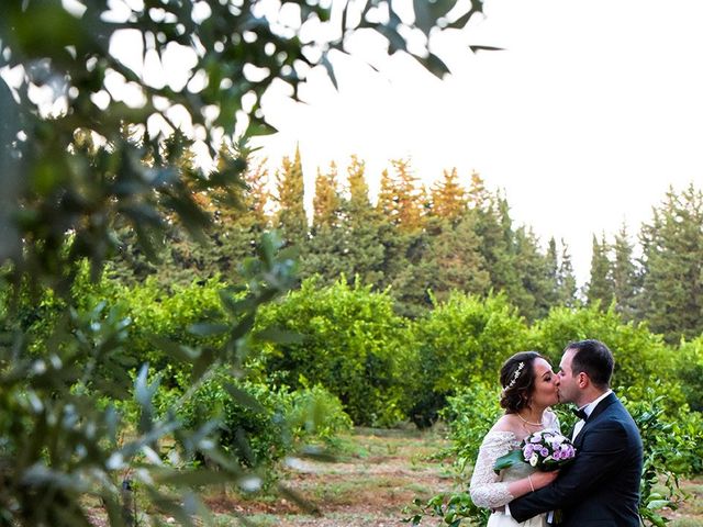
[[(559, 422), (551, 412), (545, 413), (545, 428), (559, 430)], [(491, 514), (488, 527), (546, 527), (547, 515), (540, 514), (527, 522), (517, 523), (504, 512), (504, 506), (513, 501), (514, 496), (507, 490), (507, 483), (522, 480), (536, 471), (528, 463), (517, 463), (503, 469), (500, 474), (493, 470), (495, 460), (510, 450), (520, 448), (522, 437), (515, 437), (512, 431), (491, 430), (483, 438), (479, 448), (479, 455), (471, 474), (469, 493), (478, 507), (499, 509)]]

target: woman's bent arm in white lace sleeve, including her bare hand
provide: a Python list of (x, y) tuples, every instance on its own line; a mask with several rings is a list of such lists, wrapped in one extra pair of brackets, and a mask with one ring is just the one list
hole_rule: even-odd
[(522, 480), (502, 482), (493, 466), (499, 457), (507, 453), (512, 439), (511, 434), (502, 431), (490, 431), (483, 439), (469, 485), (469, 494), (476, 506), (502, 507), (516, 497), (548, 485), (556, 478), (555, 473), (537, 472)]

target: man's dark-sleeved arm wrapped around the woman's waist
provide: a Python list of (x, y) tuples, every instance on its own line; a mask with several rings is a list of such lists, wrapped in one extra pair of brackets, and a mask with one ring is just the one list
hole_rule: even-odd
[(582, 501), (631, 457), (629, 442), (625, 428), (616, 421), (588, 430), (573, 463), (550, 485), (510, 502), (511, 515), (517, 522), (525, 522)]

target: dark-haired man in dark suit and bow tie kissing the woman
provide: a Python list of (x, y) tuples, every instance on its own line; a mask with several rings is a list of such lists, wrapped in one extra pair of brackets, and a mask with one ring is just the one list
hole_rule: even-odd
[(576, 403), (574, 461), (548, 486), (512, 501), (517, 522), (561, 509), (560, 527), (637, 527), (641, 439), (610, 390), (613, 354), (599, 340), (572, 343), (559, 365), (559, 400)]

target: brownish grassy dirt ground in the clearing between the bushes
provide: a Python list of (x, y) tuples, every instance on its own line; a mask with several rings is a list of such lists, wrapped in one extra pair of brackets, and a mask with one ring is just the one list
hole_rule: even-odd
[[(402, 523), (408, 516), (403, 508), (414, 498), (425, 501), (462, 487), (448, 460), (438, 459), (446, 447), (448, 442), (437, 431), (359, 429), (342, 438), (334, 462), (289, 460), (280, 484), (302, 498), (308, 511), (284, 493), (243, 497), (220, 489), (212, 490), (205, 502), (217, 526), (408, 526)], [(688, 497), (677, 511), (667, 513), (672, 520), (668, 525), (703, 527), (703, 479), (685, 481), (682, 486)], [(93, 519), (96, 527), (105, 525), (99, 511)], [(147, 525), (140, 522), (141, 527)], [(427, 518), (422, 525), (438, 524)]]

